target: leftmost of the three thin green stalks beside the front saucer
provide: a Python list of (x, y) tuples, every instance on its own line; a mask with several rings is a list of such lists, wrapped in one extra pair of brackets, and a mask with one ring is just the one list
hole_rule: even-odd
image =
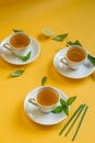
[(78, 112), (81, 110), (82, 107), (83, 107), (83, 105), (80, 105), (78, 107), (78, 109), (74, 111), (74, 113), (72, 114), (72, 117), (70, 118), (70, 120), (64, 124), (64, 127), (62, 128), (62, 130), (59, 132), (59, 135), (62, 134), (62, 132), (66, 130), (66, 128), (69, 125), (69, 123), (73, 120), (73, 118), (78, 114)]

